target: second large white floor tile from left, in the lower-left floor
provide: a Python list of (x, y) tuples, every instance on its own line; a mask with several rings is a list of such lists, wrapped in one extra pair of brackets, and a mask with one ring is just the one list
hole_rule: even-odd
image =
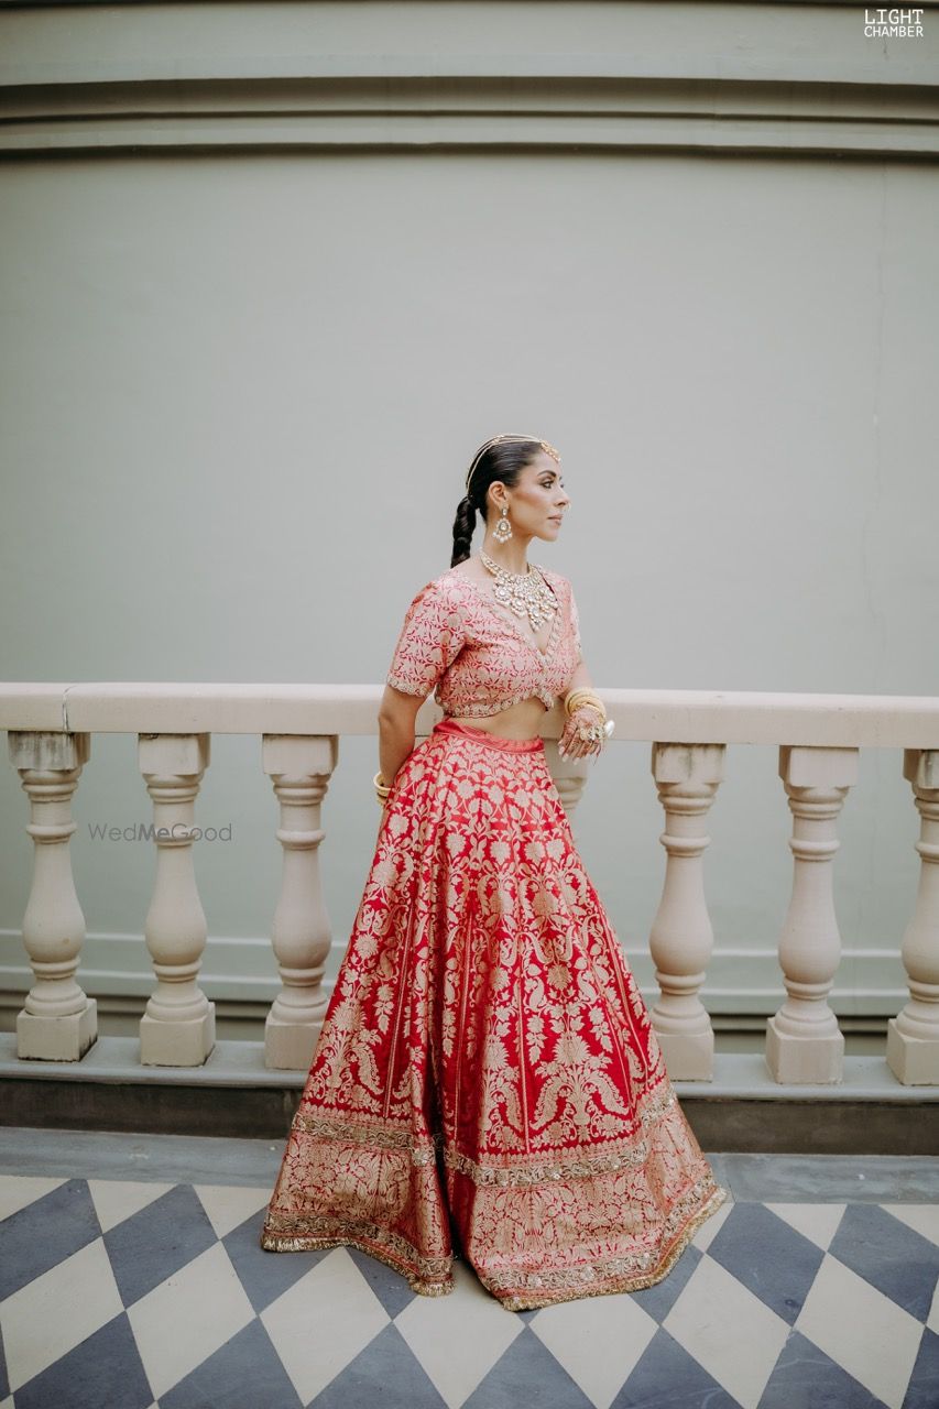
[(231, 1340), (254, 1309), (221, 1243), (186, 1262), (127, 1312), (158, 1399)]

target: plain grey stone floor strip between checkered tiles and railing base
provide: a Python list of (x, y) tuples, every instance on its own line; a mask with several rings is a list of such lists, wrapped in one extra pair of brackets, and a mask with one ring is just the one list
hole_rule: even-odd
[[(0, 1175), (272, 1186), (286, 1141), (0, 1126)], [(736, 1200), (939, 1202), (939, 1157), (706, 1151)]]

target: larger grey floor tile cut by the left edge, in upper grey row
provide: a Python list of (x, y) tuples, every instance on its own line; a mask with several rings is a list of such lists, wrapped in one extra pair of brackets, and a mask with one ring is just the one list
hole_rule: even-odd
[(0, 1223), (0, 1301), (102, 1236), (85, 1179), (69, 1179)]

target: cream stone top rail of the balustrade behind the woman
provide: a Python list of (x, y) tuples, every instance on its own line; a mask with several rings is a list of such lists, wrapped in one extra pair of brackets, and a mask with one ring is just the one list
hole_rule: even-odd
[[(382, 685), (0, 682), (0, 728), (141, 734), (375, 734)], [(939, 748), (939, 696), (598, 686), (616, 740)], [(427, 700), (417, 731), (440, 710)], [(556, 738), (561, 709), (541, 733)]]

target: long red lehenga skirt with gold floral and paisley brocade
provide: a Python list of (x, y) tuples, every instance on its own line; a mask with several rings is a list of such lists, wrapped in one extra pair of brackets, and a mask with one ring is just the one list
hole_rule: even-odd
[(438, 723), (399, 769), (266, 1212), (416, 1292), (636, 1291), (726, 1191), (536, 740)]

